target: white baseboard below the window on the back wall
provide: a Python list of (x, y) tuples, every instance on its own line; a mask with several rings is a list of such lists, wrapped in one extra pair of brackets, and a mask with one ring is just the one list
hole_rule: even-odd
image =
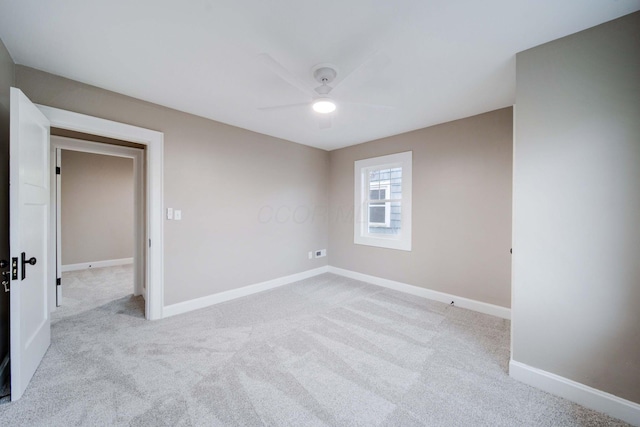
[(445, 294), (444, 292), (432, 291), (431, 289), (425, 289), (419, 286), (396, 282), (394, 280), (383, 279), (381, 277), (369, 276), (368, 274), (362, 274), (338, 267), (329, 266), (329, 273), (338, 274), (350, 279), (361, 280), (363, 282), (393, 289), (395, 291), (400, 291), (422, 298), (444, 302), (447, 304), (451, 303), (451, 301), (454, 301), (454, 305), (456, 307), (466, 308), (468, 310), (473, 310), (484, 314), (490, 314), (492, 316), (501, 317), (503, 319), (511, 319), (511, 309), (507, 307), (500, 307), (498, 305), (488, 304), (486, 302), (476, 301), (451, 294)]

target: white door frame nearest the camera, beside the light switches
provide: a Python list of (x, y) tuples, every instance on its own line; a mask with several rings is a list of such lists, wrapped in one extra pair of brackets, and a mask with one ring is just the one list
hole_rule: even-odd
[[(113, 122), (45, 105), (36, 106), (49, 119), (51, 127), (145, 145), (146, 199), (146, 282), (145, 317), (162, 319), (164, 308), (164, 227), (163, 227), (163, 162), (164, 134), (150, 129)], [(51, 233), (51, 231), (50, 231)], [(55, 236), (50, 235), (53, 245)], [(51, 248), (54, 250), (55, 248)], [(55, 283), (55, 265), (49, 263), (49, 277)]]

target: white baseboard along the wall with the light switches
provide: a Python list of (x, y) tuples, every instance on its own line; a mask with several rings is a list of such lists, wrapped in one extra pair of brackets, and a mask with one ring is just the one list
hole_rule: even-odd
[(319, 267), (313, 270), (303, 271), (302, 273), (279, 277), (277, 279), (267, 280), (266, 282), (256, 283), (254, 285), (244, 286), (238, 289), (231, 289), (229, 291), (208, 295), (202, 298), (196, 298), (189, 301), (179, 302), (177, 304), (171, 304), (165, 306), (162, 312), (164, 314), (164, 317), (176, 316), (178, 314), (187, 313), (189, 311), (198, 310), (214, 304), (219, 304), (221, 302), (241, 298), (247, 295), (252, 295), (258, 292), (277, 288), (279, 286), (288, 285), (289, 283), (294, 283), (300, 280), (308, 279), (310, 277), (318, 276), (320, 274), (326, 273), (327, 269), (327, 266)]

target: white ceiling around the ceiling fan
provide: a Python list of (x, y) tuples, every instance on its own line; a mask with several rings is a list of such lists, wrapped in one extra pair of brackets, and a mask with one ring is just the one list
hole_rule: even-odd
[[(0, 0), (13, 60), (220, 122), (332, 150), (512, 105), (515, 54), (640, 0)], [(338, 70), (333, 127), (260, 53), (311, 87)], [(378, 53), (377, 56), (374, 56)], [(393, 109), (344, 105), (383, 104)]]

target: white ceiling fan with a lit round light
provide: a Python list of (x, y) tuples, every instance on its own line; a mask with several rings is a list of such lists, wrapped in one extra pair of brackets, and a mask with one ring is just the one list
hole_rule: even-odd
[(318, 87), (310, 87), (307, 86), (304, 82), (302, 82), (299, 78), (297, 78), (293, 73), (287, 70), (282, 64), (273, 59), (267, 53), (261, 53), (258, 55), (260, 60), (266, 64), (271, 71), (277, 74), (282, 80), (289, 83), (291, 86), (294, 86), (309, 95), (311, 98), (308, 102), (296, 103), (296, 104), (286, 104), (286, 105), (275, 105), (271, 107), (262, 107), (260, 110), (281, 110), (287, 108), (300, 108), (300, 107), (311, 107), (313, 111), (318, 113), (319, 119), (319, 127), (320, 129), (328, 129), (332, 126), (332, 116), (338, 104), (342, 105), (361, 105), (372, 108), (385, 108), (392, 109), (394, 107), (390, 107), (387, 105), (378, 105), (378, 104), (365, 104), (359, 102), (345, 102), (339, 101), (337, 102), (332, 96), (329, 94), (331, 91), (336, 89), (338, 86), (341, 86), (345, 81), (349, 79), (353, 79), (354, 76), (360, 75), (360, 77), (365, 77), (364, 74), (367, 70), (373, 70), (374, 72), (379, 72), (382, 68), (388, 65), (389, 58), (378, 52), (373, 56), (369, 57), (365, 62), (356, 67), (351, 73), (349, 73), (345, 78), (342, 79), (337, 85), (330, 86), (330, 84), (335, 80), (338, 75), (336, 69), (329, 64), (319, 64), (313, 67), (311, 70), (313, 78), (320, 83)]

